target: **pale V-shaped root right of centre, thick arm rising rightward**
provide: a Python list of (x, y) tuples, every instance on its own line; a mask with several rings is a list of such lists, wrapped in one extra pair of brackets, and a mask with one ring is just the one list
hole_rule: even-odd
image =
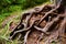
[(55, 18), (53, 21), (47, 22), (47, 24), (44, 26), (44, 29), (40, 29), (37, 26), (34, 25), (34, 28), (38, 31), (42, 31), (44, 33), (46, 33), (48, 31), (48, 29), (53, 25), (53, 23), (57, 22), (59, 20), (59, 16)]

